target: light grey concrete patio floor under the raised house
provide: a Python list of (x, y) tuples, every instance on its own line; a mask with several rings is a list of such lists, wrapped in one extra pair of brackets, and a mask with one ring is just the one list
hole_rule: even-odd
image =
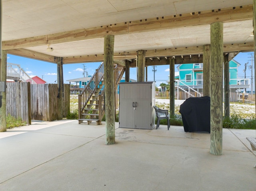
[(118, 128), (77, 120), (33, 121), (0, 132), (1, 191), (256, 191), (255, 130), (223, 129), (223, 155), (210, 134), (182, 126)]

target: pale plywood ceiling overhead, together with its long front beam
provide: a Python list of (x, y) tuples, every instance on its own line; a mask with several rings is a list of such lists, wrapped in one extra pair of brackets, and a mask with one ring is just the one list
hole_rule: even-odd
[[(240, 44), (247, 44), (241, 51), (248, 51), (253, 43), (251, 4), (252, 0), (2, 0), (3, 49), (28, 57), (40, 55), (46, 61), (51, 61), (51, 56), (84, 58), (76, 62), (94, 61), (93, 56), (103, 55), (106, 32), (115, 35), (115, 55), (134, 55), (137, 50), (145, 49), (147, 56), (153, 56), (149, 53), (154, 50), (174, 48), (187, 48), (189, 53), (190, 47), (210, 43), (210, 23), (214, 21), (211, 12), (221, 13), (229, 8), (230, 18), (226, 14), (223, 21), (224, 44), (239, 44), (236, 50)], [(246, 9), (247, 14), (235, 18), (232, 12), (239, 9)], [(204, 12), (209, 14), (200, 17)], [(191, 21), (192, 25), (187, 19), (191, 15), (198, 16), (197, 21)], [(184, 18), (186, 20), (182, 20)], [(216, 17), (216, 21), (218, 19)], [(152, 24), (153, 21), (156, 24)], [(173, 22), (177, 22), (178, 27)], [(122, 30), (117, 28), (119, 25)], [(84, 38), (79, 40), (78, 30), (80, 33), (84, 30)], [(88, 37), (89, 31), (94, 32), (93, 37)], [(49, 53), (46, 51), (48, 38), (55, 34), (58, 37), (52, 38), (50, 45), (54, 51)], [(172, 51), (163, 52), (166, 56), (173, 55)]]

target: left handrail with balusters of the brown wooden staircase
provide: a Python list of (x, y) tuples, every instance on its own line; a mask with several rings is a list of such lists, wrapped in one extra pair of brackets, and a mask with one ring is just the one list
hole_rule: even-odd
[(88, 81), (83, 91), (78, 95), (78, 117), (82, 118), (82, 112), (90, 98), (95, 93), (100, 81), (102, 81), (104, 77), (104, 63), (102, 62), (98, 69), (96, 69), (94, 75)]

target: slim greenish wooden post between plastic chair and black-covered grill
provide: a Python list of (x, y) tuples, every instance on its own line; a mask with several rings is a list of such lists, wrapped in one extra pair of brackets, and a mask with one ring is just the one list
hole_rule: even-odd
[(170, 62), (170, 118), (174, 118), (174, 90), (175, 90), (175, 85), (174, 85), (174, 75), (175, 75), (175, 59), (172, 57), (172, 59), (169, 59)]

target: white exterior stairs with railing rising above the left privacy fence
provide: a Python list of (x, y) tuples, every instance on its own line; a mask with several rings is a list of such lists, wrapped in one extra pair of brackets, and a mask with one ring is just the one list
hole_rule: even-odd
[(36, 82), (30, 78), (30, 76), (18, 64), (7, 63), (6, 77), (7, 79), (14, 81), (30, 82), (31, 84), (36, 84)]

